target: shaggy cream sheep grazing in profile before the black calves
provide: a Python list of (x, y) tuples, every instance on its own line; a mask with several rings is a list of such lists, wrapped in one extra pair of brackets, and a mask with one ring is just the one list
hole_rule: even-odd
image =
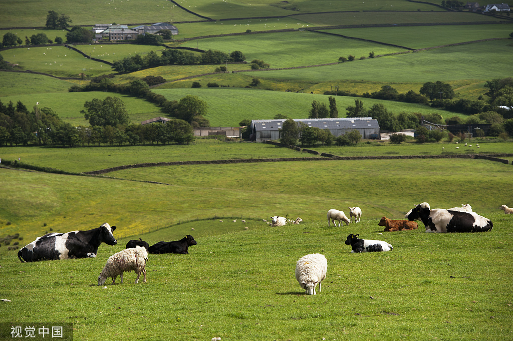
[(117, 275), (120, 275), (123, 283), (123, 272), (132, 270), (137, 274), (135, 283), (139, 283), (141, 272), (144, 274), (144, 283), (146, 283), (146, 260), (148, 260), (148, 252), (141, 246), (114, 253), (107, 259), (107, 264), (98, 276), (98, 285), (103, 285), (107, 277), (112, 277), (112, 284), (114, 284)]

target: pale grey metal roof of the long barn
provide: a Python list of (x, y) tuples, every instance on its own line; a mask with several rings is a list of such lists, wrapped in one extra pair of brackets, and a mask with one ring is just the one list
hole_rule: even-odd
[[(251, 126), (253, 130), (279, 130), (286, 119), (253, 119)], [(294, 122), (303, 122), (309, 127), (320, 129), (368, 129), (378, 128), (377, 119), (371, 117), (344, 117), (344, 118), (299, 118)]]

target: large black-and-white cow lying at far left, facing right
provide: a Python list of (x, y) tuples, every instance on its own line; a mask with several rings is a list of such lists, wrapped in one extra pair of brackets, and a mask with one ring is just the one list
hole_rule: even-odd
[(117, 240), (112, 235), (115, 229), (115, 226), (111, 227), (105, 223), (88, 231), (48, 233), (37, 237), (32, 243), (19, 249), (18, 258), (22, 262), (37, 262), (39, 260), (96, 257), (100, 244), (117, 244)]

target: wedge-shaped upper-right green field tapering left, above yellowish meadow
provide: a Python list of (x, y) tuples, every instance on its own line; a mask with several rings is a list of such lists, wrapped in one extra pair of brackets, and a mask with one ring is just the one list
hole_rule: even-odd
[[(374, 82), (422, 82), (502, 78), (513, 73), (509, 54), (513, 51), (509, 39), (450, 46), (406, 55), (394, 55), (340, 63), (321, 68), (298, 70), (256, 71), (259, 78), (318, 82), (339, 79)], [(457, 62), (457, 63), (456, 63)]]

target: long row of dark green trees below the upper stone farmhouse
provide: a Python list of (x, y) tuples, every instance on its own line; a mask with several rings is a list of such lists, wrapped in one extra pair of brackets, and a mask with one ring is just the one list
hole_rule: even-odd
[[(141, 36), (141, 35), (140, 35)], [(139, 38), (139, 36), (137, 37)], [(166, 49), (159, 56), (154, 51), (144, 57), (139, 54), (114, 61), (112, 68), (120, 73), (134, 72), (143, 68), (162, 65), (199, 65), (199, 64), (224, 64), (228, 62), (244, 61), (241, 51), (233, 51), (230, 54), (221, 51), (208, 50), (201, 54), (186, 50)]]

